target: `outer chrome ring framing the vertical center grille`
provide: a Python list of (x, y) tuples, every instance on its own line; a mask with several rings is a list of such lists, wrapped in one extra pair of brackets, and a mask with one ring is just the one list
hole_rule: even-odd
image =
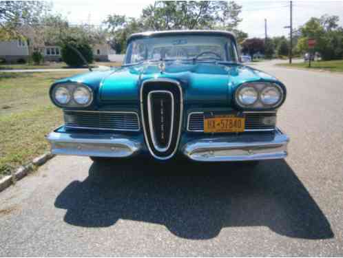
[[(143, 88), (146, 83), (151, 83), (151, 82), (167, 82), (167, 83), (174, 83), (176, 86), (178, 86), (178, 89), (180, 90), (180, 122), (179, 122), (179, 127), (178, 127), (178, 136), (176, 138), (176, 147), (174, 151), (168, 155), (167, 157), (160, 157), (158, 155), (155, 155), (155, 153), (152, 151), (152, 147), (149, 145), (149, 140), (147, 139), (147, 130), (145, 127), (145, 118), (144, 118), (144, 112), (143, 112)], [(152, 78), (149, 80), (145, 80), (142, 83), (141, 87), (141, 116), (142, 116), (142, 124), (143, 124), (143, 133), (144, 133), (144, 138), (145, 142), (147, 144), (147, 149), (149, 150), (149, 153), (152, 154), (152, 156), (158, 160), (168, 160), (169, 158), (173, 157), (178, 150), (178, 144), (180, 142), (180, 136), (181, 136), (181, 127), (183, 124), (183, 88), (181, 87), (180, 83), (178, 80), (172, 80), (169, 78)]]

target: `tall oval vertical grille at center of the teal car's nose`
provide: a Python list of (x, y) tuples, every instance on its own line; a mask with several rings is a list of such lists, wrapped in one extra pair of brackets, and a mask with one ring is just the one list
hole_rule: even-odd
[(161, 160), (171, 158), (178, 147), (183, 112), (178, 82), (159, 78), (143, 83), (141, 112), (149, 152)]

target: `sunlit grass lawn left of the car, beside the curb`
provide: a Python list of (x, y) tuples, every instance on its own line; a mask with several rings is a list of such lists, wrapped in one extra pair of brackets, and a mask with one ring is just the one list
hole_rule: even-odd
[(0, 72), (0, 178), (49, 150), (45, 134), (63, 122), (48, 96), (52, 82), (78, 72)]

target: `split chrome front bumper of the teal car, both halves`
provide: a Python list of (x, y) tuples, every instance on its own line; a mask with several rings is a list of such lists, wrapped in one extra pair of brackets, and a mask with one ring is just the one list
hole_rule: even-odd
[[(52, 154), (125, 158), (143, 151), (143, 138), (113, 133), (53, 131), (47, 136)], [(203, 137), (183, 144), (180, 150), (198, 162), (272, 160), (286, 158), (289, 137), (273, 133), (243, 133)]]

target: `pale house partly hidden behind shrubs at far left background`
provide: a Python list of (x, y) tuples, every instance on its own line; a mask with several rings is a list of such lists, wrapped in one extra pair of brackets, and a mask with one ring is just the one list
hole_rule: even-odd
[[(109, 61), (110, 54), (116, 54), (108, 44), (93, 45), (94, 61)], [(44, 61), (61, 61), (61, 47), (57, 45), (45, 45), (38, 47), (43, 54)], [(5, 59), (6, 63), (18, 63), (21, 59), (28, 61), (29, 45), (26, 41), (0, 41), (0, 59)]]

